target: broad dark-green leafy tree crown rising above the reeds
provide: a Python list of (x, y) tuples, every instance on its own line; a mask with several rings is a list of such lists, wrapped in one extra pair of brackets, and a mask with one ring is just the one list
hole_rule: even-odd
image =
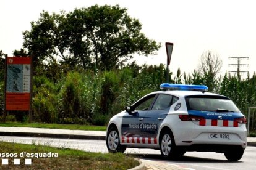
[(73, 67), (102, 70), (119, 67), (132, 54), (155, 54), (160, 43), (140, 32), (142, 24), (126, 8), (91, 6), (66, 14), (43, 11), (32, 29), (23, 33), (29, 53), (38, 60), (58, 57)]

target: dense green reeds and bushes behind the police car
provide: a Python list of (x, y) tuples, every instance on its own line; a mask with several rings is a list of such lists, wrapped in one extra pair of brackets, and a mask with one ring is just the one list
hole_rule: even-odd
[[(33, 78), (34, 121), (104, 125), (126, 105), (160, 90), (159, 85), (166, 79), (164, 65), (140, 67), (134, 63), (96, 73), (90, 70), (64, 73), (61, 67), (58, 72), (61, 75), (57, 80), (47, 71)], [(204, 84), (205, 80), (197, 71), (186, 75), (178, 70), (176, 76), (172, 75), (171, 83)], [(215, 92), (230, 97), (245, 115), (249, 106), (256, 105), (256, 75), (243, 80), (225, 75), (217, 80)], [(2, 87), (1, 81), (1, 92)], [(1, 111), (2, 101), (0, 98)]]

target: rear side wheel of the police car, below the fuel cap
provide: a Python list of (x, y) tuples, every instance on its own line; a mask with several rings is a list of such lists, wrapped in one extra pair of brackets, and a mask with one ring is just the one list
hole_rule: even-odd
[(164, 131), (160, 136), (160, 151), (165, 159), (173, 158), (176, 145), (171, 131)]

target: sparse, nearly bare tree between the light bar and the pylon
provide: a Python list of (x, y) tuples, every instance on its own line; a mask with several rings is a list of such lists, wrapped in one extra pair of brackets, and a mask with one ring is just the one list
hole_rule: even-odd
[(221, 70), (222, 60), (218, 54), (213, 51), (205, 51), (201, 55), (200, 64), (198, 66), (199, 73), (203, 76), (205, 85), (209, 91), (214, 91), (216, 76)]

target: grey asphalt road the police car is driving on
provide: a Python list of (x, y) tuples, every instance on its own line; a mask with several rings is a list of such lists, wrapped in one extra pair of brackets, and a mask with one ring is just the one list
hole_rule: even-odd
[[(9, 137), (1, 136), (1, 141), (17, 142), (23, 144), (51, 145), (53, 147), (75, 148), (88, 152), (108, 152), (103, 140), (76, 140), (76, 139), (52, 139), (36, 137)], [(150, 164), (168, 168), (176, 165), (186, 169), (256, 169), (256, 147), (247, 147), (240, 161), (229, 162), (221, 153), (212, 152), (187, 152), (176, 160), (162, 160), (159, 150), (127, 148), (127, 154), (138, 156), (146, 166)]]

